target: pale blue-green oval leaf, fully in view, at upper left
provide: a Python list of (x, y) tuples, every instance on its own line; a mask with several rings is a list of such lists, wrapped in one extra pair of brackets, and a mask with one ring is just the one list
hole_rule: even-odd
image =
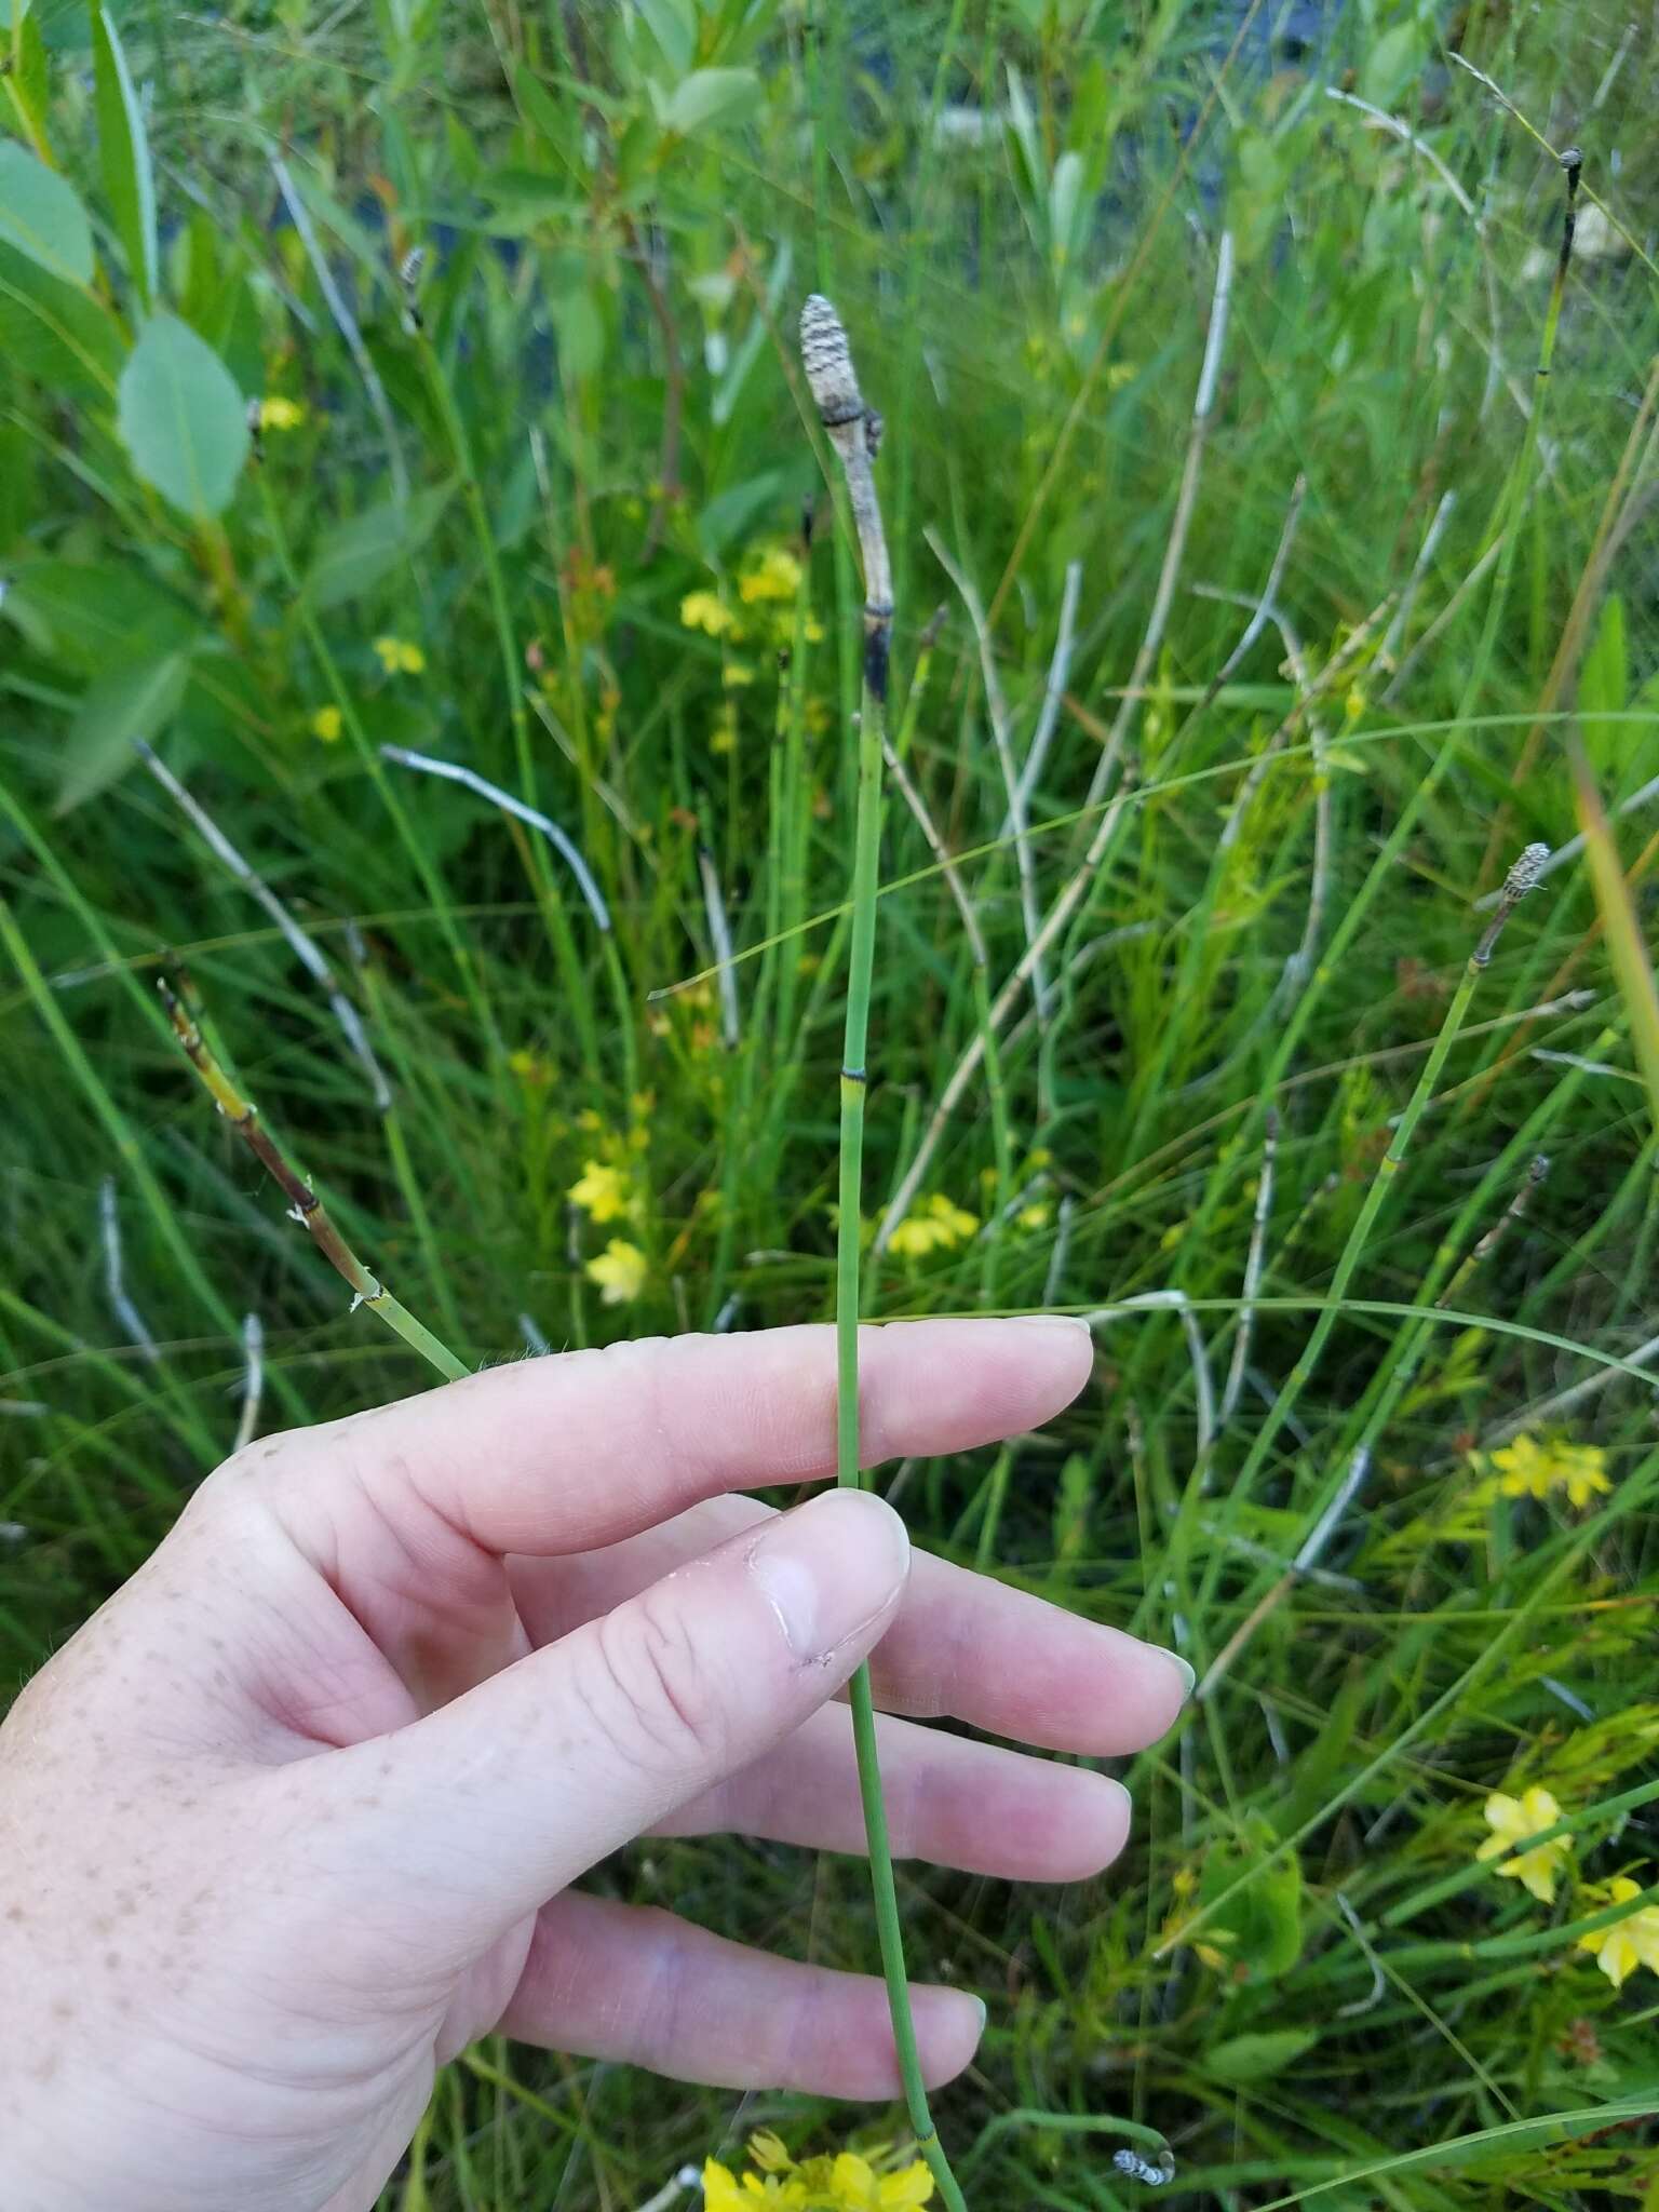
[(223, 513), (248, 458), (248, 407), (230, 369), (177, 314), (155, 314), (122, 369), (122, 440), (164, 500)]

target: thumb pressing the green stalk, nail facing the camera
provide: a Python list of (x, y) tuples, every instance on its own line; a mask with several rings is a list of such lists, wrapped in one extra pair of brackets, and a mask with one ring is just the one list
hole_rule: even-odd
[(376, 1896), (414, 1885), (440, 1947), (493, 1942), (792, 1734), (887, 1630), (907, 1573), (894, 1509), (827, 1491), (398, 1734), (334, 1754), (330, 1781), (352, 1807), (336, 1836)]

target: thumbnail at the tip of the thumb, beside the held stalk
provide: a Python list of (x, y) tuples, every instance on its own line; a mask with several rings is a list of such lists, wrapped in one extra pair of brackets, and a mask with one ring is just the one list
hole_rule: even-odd
[(796, 1659), (830, 1659), (891, 1606), (909, 1573), (909, 1537), (869, 1491), (825, 1491), (774, 1520), (748, 1568)]

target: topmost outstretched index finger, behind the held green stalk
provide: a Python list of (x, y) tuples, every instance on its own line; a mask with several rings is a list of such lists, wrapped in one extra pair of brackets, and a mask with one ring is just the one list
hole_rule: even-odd
[[(1086, 1325), (1064, 1316), (865, 1327), (863, 1464), (1033, 1429), (1077, 1396), (1091, 1360)], [(588, 1551), (721, 1491), (834, 1473), (836, 1334), (803, 1325), (562, 1352), (354, 1413), (305, 1444), (285, 1500), (292, 1513), (312, 1498), (330, 1540), (343, 1458), (392, 1528), (436, 1515), (489, 1553)], [(303, 1524), (294, 1533), (303, 1540)]]

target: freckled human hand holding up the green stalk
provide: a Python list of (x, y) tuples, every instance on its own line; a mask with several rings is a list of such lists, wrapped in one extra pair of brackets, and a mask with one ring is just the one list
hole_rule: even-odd
[[(869, 1460), (1084, 1385), (1064, 1321), (867, 1329)], [(1181, 1663), (962, 1573), (830, 1491), (834, 1334), (615, 1345), (252, 1444), (0, 1730), (7, 2212), (363, 2212), (434, 2070), (502, 2028), (723, 2086), (898, 2088), (880, 1982), (568, 1885), (633, 1836), (856, 1851), (889, 1714), (1133, 1752)], [(894, 1849), (1077, 1880), (1099, 1774), (883, 1723)], [(916, 1991), (929, 2081), (978, 2000)]]

